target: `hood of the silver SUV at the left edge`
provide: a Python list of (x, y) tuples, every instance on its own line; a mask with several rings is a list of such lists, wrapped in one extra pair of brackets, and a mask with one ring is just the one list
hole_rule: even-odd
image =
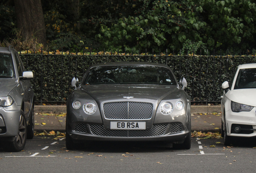
[(10, 91), (17, 86), (17, 81), (15, 78), (0, 78), (0, 91), (1, 96), (8, 96)]

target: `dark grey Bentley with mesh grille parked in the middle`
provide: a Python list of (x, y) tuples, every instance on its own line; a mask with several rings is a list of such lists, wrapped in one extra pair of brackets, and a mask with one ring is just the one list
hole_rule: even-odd
[(86, 141), (161, 141), (190, 149), (190, 97), (165, 64), (110, 62), (88, 68), (67, 100), (66, 148)]

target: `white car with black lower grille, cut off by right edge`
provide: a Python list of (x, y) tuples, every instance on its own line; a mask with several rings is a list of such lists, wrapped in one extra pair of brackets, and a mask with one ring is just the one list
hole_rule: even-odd
[(235, 137), (256, 136), (256, 63), (237, 67), (230, 82), (223, 82), (221, 136), (224, 145)]

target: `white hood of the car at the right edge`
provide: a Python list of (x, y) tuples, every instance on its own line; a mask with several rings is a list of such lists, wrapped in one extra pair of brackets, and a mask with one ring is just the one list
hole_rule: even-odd
[(231, 101), (256, 107), (256, 89), (235, 89), (228, 93)]

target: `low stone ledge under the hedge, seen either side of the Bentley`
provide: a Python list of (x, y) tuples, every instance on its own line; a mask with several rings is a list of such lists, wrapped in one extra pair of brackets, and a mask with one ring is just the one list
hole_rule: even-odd
[[(67, 113), (66, 105), (35, 105), (35, 113)], [(191, 106), (191, 113), (221, 113), (221, 106)]]

